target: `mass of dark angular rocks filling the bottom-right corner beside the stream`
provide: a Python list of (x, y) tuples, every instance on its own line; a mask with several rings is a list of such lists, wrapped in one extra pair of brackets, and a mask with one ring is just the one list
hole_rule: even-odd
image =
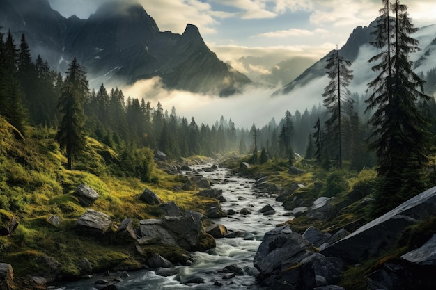
[[(323, 200), (325, 201), (325, 200)], [(314, 227), (301, 236), (288, 225), (265, 234), (254, 258), (260, 282), (268, 289), (342, 289), (345, 264), (387, 255), (410, 225), (434, 218), (436, 187), (360, 227), (334, 234)], [(431, 239), (430, 239), (431, 238)], [(386, 259), (367, 275), (368, 290), (436, 289), (436, 234), (401, 257)], [(319, 250), (319, 252), (318, 252)], [(362, 274), (363, 275), (363, 274)]]

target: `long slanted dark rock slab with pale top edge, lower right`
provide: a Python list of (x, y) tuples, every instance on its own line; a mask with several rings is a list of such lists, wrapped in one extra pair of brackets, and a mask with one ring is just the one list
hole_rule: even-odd
[(380, 256), (396, 243), (398, 236), (410, 225), (434, 216), (436, 187), (416, 195), (387, 214), (359, 227), (344, 239), (321, 251), (327, 257), (339, 257), (349, 264)]

